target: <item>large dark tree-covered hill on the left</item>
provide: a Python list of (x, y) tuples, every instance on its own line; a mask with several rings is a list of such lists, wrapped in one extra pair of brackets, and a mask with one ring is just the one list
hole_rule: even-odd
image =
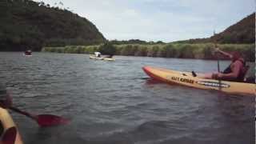
[(0, 1), (0, 51), (106, 41), (97, 27), (69, 10), (31, 0)]

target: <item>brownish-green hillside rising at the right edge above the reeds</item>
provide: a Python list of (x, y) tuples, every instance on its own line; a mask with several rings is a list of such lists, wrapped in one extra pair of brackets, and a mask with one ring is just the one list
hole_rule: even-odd
[(226, 28), (210, 38), (196, 38), (175, 43), (254, 43), (255, 42), (255, 13)]

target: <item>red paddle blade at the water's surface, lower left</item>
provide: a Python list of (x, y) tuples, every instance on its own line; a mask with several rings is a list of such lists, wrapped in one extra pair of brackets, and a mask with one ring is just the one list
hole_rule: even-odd
[(70, 122), (70, 120), (66, 118), (62, 118), (56, 115), (51, 114), (39, 114), (37, 115), (38, 125), (45, 126), (57, 126), (57, 125), (65, 125)]

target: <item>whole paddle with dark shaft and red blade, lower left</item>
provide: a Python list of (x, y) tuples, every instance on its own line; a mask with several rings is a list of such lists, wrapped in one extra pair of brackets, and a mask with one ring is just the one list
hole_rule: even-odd
[(66, 119), (66, 118), (62, 118), (56, 115), (52, 115), (52, 114), (30, 114), (24, 110), (19, 110), (17, 107), (11, 106), (11, 100), (12, 98), (10, 97), (10, 94), (8, 94), (7, 96), (7, 100), (8, 102), (10, 102), (8, 108), (10, 110), (14, 110), (15, 112), (19, 113), (19, 114), (23, 114), (26, 115), (27, 117), (33, 119), (34, 121), (38, 122), (39, 126), (45, 127), (45, 126), (57, 126), (57, 125), (62, 125), (62, 124), (67, 124), (70, 122), (70, 120)]

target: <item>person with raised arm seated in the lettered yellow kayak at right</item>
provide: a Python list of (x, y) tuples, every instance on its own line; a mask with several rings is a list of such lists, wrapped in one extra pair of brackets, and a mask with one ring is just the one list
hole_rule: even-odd
[[(216, 49), (216, 52), (223, 54), (231, 59), (230, 66), (228, 66), (223, 72), (219, 73), (210, 73), (198, 75), (200, 78), (206, 79), (222, 79), (226, 81), (234, 81), (234, 82), (243, 82), (244, 77), (246, 75), (246, 71), (249, 67), (246, 67), (246, 62), (242, 58), (242, 54), (238, 51), (235, 51), (233, 54), (226, 53), (222, 50)], [(193, 76), (196, 76), (194, 71), (192, 71)]]

